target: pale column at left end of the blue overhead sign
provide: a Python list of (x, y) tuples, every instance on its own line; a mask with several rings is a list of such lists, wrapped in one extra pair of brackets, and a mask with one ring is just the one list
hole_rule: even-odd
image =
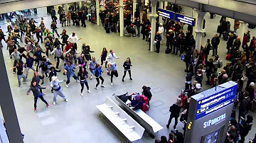
[(156, 14), (156, 3), (157, 0), (151, 1), (152, 7), (151, 7), (151, 14), (149, 16), (151, 17), (151, 34), (150, 34), (150, 51), (154, 52), (154, 37), (156, 35), (156, 18), (158, 15)]

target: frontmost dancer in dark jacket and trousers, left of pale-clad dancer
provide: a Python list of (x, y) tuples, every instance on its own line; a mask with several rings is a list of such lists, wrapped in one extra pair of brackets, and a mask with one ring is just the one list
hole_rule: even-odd
[(43, 98), (43, 93), (41, 93), (41, 91), (39, 89), (46, 89), (46, 87), (41, 87), (41, 86), (37, 86), (36, 81), (31, 81), (31, 86), (27, 91), (27, 95), (29, 94), (30, 91), (33, 92), (33, 96), (34, 96), (34, 111), (36, 112), (36, 103), (38, 98), (41, 98), (41, 100), (46, 103), (46, 107), (49, 107), (49, 104), (47, 103), (47, 101)]

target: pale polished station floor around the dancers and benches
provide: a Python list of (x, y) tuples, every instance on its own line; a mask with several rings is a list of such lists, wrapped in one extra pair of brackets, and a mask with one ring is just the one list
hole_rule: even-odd
[[(191, 10), (185, 8), (185, 12), (190, 15)], [(209, 19), (209, 13), (206, 14), (206, 38), (212, 38), (215, 34), (219, 16), (214, 19)], [(39, 19), (36, 19), (40, 21)], [(50, 27), (50, 18), (45, 18), (47, 27)], [(233, 26), (233, 25), (231, 25)], [(4, 31), (5, 26), (1, 26)], [(63, 29), (58, 24), (58, 31)], [(185, 63), (181, 61), (180, 57), (175, 55), (166, 55), (164, 50), (166, 47), (161, 45), (161, 52), (156, 54), (155, 52), (149, 52), (148, 44), (142, 38), (127, 38), (119, 37), (117, 33), (105, 33), (102, 26), (92, 25), (87, 22), (87, 28), (77, 28), (74, 26), (65, 27), (68, 31), (68, 35), (75, 32), (78, 38), (82, 38), (78, 42), (78, 50), (82, 46), (82, 42), (86, 42), (86, 45), (90, 45), (91, 49), (95, 52), (92, 56), (99, 59), (102, 47), (106, 47), (107, 50), (114, 50), (117, 56), (121, 58), (115, 59), (117, 62), (119, 77), (114, 77), (114, 85), (110, 86), (110, 76), (103, 74), (105, 79), (106, 88), (100, 88), (95, 90), (96, 80), (89, 80), (89, 86), (91, 93), (84, 91), (85, 96), (80, 96), (80, 84), (71, 79), (70, 87), (66, 88), (65, 84), (62, 84), (63, 91), (68, 97), (68, 103), (65, 103), (63, 99), (58, 97), (58, 102), (53, 105), (53, 93), (50, 90), (46, 90), (45, 99), (50, 103), (50, 108), (46, 108), (46, 105), (38, 101), (38, 112), (33, 112), (33, 95), (26, 96), (26, 91), (29, 87), (29, 82), (24, 83), (23, 87), (18, 87), (18, 81), (16, 74), (12, 74), (9, 69), (12, 67), (12, 62), (9, 59), (8, 51), (6, 51), (6, 45), (4, 44), (4, 59), (6, 63), (6, 70), (8, 72), (11, 91), (14, 97), (14, 103), (16, 106), (16, 112), (18, 115), (21, 131), (25, 135), (24, 142), (26, 143), (95, 143), (95, 142), (126, 142), (122, 136), (119, 135), (117, 130), (107, 122), (105, 118), (99, 117), (100, 111), (95, 107), (96, 105), (105, 102), (107, 96), (114, 100), (113, 93), (122, 94), (134, 92), (141, 92), (142, 86), (150, 86), (153, 98), (151, 99), (151, 108), (147, 114), (156, 120), (162, 127), (156, 134), (156, 138), (160, 138), (161, 135), (167, 136), (170, 130), (167, 130), (165, 125), (169, 119), (169, 107), (175, 101), (179, 95), (181, 89), (185, 86), (185, 75), (183, 72)], [(252, 31), (252, 35), (256, 35), (256, 30)], [(206, 43), (206, 38), (203, 38), (203, 45)], [(21, 44), (23, 45), (23, 44)], [(219, 47), (220, 57), (224, 59), (225, 64), (225, 41), (221, 40)], [(122, 82), (124, 60), (130, 57), (132, 60), (132, 78), (130, 81), (128, 76), (124, 83)], [(53, 60), (53, 56), (50, 57)], [(98, 61), (97, 61), (98, 62)], [(100, 61), (99, 61), (100, 62)], [(63, 64), (60, 64), (63, 68)], [(31, 81), (33, 73), (28, 75), (28, 81)], [(58, 75), (59, 79), (66, 79), (62, 74)], [(49, 86), (48, 79), (43, 86)], [(204, 89), (208, 86), (203, 85)], [(254, 115), (255, 117), (255, 115)], [(174, 121), (171, 123), (172, 127)], [(182, 130), (183, 124), (178, 122), (178, 130)], [(255, 125), (254, 127), (255, 128)], [(255, 130), (253, 129), (247, 138), (254, 137)], [(138, 143), (154, 142), (153, 139), (147, 137), (144, 133), (144, 137), (137, 141)]]

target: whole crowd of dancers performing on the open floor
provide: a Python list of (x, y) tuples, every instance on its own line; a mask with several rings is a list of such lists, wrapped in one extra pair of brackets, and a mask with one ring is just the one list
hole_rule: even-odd
[[(33, 23), (33, 21), (31, 23)], [(41, 23), (43, 23), (43, 21), (41, 21)], [(52, 23), (52, 25), (53, 24), (54, 23)], [(14, 27), (17, 28), (17, 26)], [(38, 98), (41, 98), (41, 100), (46, 103), (46, 106), (49, 107), (48, 102), (43, 98), (43, 95), (45, 95), (45, 93), (42, 91), (43, 89), (48, 89), (48, 86), (41, 86), (45, 83), (45, 78), (48, 78), (50, 81), (50, 88), (51, 92), (53, 93), (53, 105), (56, 105), (57, 96), (62, 97), (66, 102), (68, 102), (68, 98), (65, 96), (65, 93), (63, 93), (63, 88), (62, 86), (60, 86), (60, 83), (65, 82), (65, 86), (68, 88), (71, 76), (73, 77), (73, 79), (75, 79), (75, 81), (80, 83), (80, 96), (84, 96), (84, 86), (86, 86), (87, 88), (87, 93), (90, 93), (87, 78), (92, 80), (95, 77), (97, 81), (97, 84), (95, 85), (96, 90), (98, 90), (98, 86), (100, 84), (100, 87), (105, 88), (105, 80), (102, 77), (102, 74), (105, 71), (105, 69), (103, 69), (104, 67), (102, 67), (103, 64), (105, 64), (105, 68), (107, 69), (107, 75), (110, 76), (111, 86), (113, 85), (113, 77), (118, 77), (117, 63), (114, 62), (114, 59), (118, 59), (119, 57), (117, 57), (113, 50), (110, 50), (110, 54), (107, 55), (107, 49), (104, 47), (100, 55), (100, 59), (98, 59), (101, 62), (99, 64), (97, 63), (95, 57), (91, 57), (90, 53), (94, 51), (90, 50), (89, 45), (85, 45), (85, 43), (83, 43), (82, 52), (78, 52), (78, 45), (76, 44), (76, 42), (78, 42), (78, 40), (80, 40), (81, 38), (78, 38), (75, 33), (72, 33), (72, 35), (68, 36), (66, 34), (66, 30), (63, 30), (63, 33), (61, 33), (60, 36), (58, 35), (59, 38), (54, 38), (54, 33), (52, 33), (48, 28), (41, 28), (41, 30), (36, 30), (33, 32), (31, 30), (31, 27), (28, 25), (26, 27), (27, 32), (24, 34), (25, 45), (21, 47), (18, 44), (17, 38), (15, 39), (13, 37), (19, 35), (21, 30), (19, 28), (18, 30), (15, 31), (16, 33), (11, 30), (8, 40), (6, 40), (7, 50), (9, 50), (10, 58), (14, 61), (14, 67), (12, 67), (11, 70), (13, 70), (14, 74), (17, 71), (19, 87), (22, 87), (21, 79), (23, 79), (23, 81), (26, 81), (26, 79), (28, 78), (28, 71), (30, 69), (34, 71), (31, 86), (28, 89), (27, 94), (29, 94), (30, 91), (33, 92), (35, 112), (37, 111), (36, 103), (38, 101)], [(56, 31), (54, 30), (54, 32)], [(34, 34), (36, 34), (38, 41), (35, 41), (33, 39)], [(61, 39), (62, 42), (60, 42)], [(41, 40), (41, 42), (44, 42), (44, 50), (41, 45), (38, 44), (39, 40)], [(43, 56), (43, 53), (46, 53), (46, 56)], [(50, 59), (48, 58), (50, 54), (54, 55), (54, 59), (56, 62), (50, 61)], [(77, 55), (79, 56), (77, 57)], [(22, 58), (26, 59), (26, 62), (23, 62)], [(59, 68), (60, 59), (63, 60), (63, 69)], [(33, 64), (36, 65), (36, 68), (33, 67)], [(76, 64), (76, 66), (74, 64)], [(53, 65), (55, 65), (55, 67), (53, 67)], [(127, 71), (129, 73), (129, 79), (132, 80), (131, 66), (131, 59), (127, 57), (123, 64), (123, 82)], [(75, 74), (75, 69), (77, 68), (79, 68), (79, 71), (78, 74)], [(57, 73), (61, 71), (63, 71), (63, 74), (67, 76), (67, 80), (58, 79)], [(90, 75), (88, 71), (90, 71)]]

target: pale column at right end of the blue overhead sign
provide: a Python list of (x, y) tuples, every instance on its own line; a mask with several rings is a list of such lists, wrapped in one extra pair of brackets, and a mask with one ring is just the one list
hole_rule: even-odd
[(198, 13), (198, 23), (196, 28), (196, 50), (200, 52), (203, 37), (203, 17), (206, 15), (204, 11), (196, 11)]

